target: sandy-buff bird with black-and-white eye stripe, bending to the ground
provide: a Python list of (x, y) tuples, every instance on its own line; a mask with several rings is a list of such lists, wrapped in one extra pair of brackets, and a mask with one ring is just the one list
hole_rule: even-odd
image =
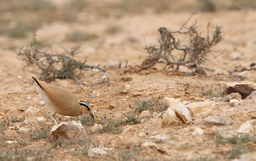
[(58, 121), (54, 118), (57, 112), (63, 116), (79, 116), (82, 114), (90, 114), (93, 117), (90, 105), (85, 101), (79, 101), (71, 91), (45, 82), (39, 81), (32, 77), (38, 85), (38, 91), (41, 94), (45, 105), (51, 109), (50, 114), (54, 123), (58, 125)]

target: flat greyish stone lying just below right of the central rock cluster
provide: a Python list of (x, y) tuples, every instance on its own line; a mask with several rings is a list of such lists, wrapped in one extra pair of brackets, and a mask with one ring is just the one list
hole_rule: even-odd
[(230, 125), (230, 120), (221, 116), (208, 116), (204, 119), (204, 125)]

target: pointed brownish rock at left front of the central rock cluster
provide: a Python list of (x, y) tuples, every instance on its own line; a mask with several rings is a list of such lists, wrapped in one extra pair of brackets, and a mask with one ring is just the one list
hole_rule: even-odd
[(162, 128), (183, 125), (183, 122), (176, 116), (175, 112), (169, 107), (162, 113)]

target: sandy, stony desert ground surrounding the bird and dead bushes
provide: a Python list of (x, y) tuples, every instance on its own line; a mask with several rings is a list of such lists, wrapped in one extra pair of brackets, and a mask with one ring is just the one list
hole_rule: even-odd
[[(225, 83), (256, 81), (255, 70), (242, 70), (256, 62), (254, 1), (207, 1), (213, 6), (202, 6), (202, 2), (1, 1), (0, 160), (253, 160), (255, 123), (247, 134), (237, 132), (256, 118), (253, 99), (239, 100), (234, 106), (216, 102), (211, 112), (192, 116), (189, 123), (162, 127), (161, 112), (167, 108), (159, 108), (165, 107), (164, 97), (181, 98), (187, 104), (204, 102), (222, 97)], [(198, 7), (188, 26), (196, 20), (202, 34), (209, 22), (210, 33), (217, 25), (223, 31), (224, 39), (214, 47), (220, 56), (205, 62), (211, 70), (195, 75), (182, 68), (164, 70), (163, 64), (157, 64), (136, 72), (148, 57), (142, 52), (145, 43), (156, 43), (159, 38), (157, 29), (179, 29)], [(83, 84), (74, 79), (47, 82), (91, 105), (95, 121), (88, 115), (65, 118), (56, 114), (60, 122), (83, 124), (86, 135), (80, 139), (49, 139), (54, 126), (48, 115), (51, 111), (31, 78), (40, 77), (38, 68), (17, 59), (20, 48), (30, 44), (33, 31), (38, 43), (48, 45), (52, 53), (79, 44), (77, 61), (86, 59), (88, 65), (106, 68), (106, 72), (84, 70), (79, 77)], [(84, 34), (84, 39), (77, 40), (74, 32)], [(150, 107), (148, 116), (138, 110), (143, 102)], [(134, 120), (128, 118), (130, 113)], [(209, 116), (228, 118), (230, 123), (203, 125)], [(126, 122), (117, 125), (118, 120)], [(95, 130), (95, 123), (103, 130)], [(204, 133), (196, 134), (195, 128)], [(244, 138), (246, 142), (241, 141)], [(101, 152), (94, 153), (93, 148)]]

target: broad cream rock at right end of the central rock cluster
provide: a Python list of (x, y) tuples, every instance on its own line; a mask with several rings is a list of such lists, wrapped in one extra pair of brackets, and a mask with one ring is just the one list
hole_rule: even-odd
[(202, 114), (208, 114), (215, 107), (216, 104), (213, 101), (204, 101), (204, 102), (194, 102), (185, 107), (189, 110), (192, 116), (200, 116)]

